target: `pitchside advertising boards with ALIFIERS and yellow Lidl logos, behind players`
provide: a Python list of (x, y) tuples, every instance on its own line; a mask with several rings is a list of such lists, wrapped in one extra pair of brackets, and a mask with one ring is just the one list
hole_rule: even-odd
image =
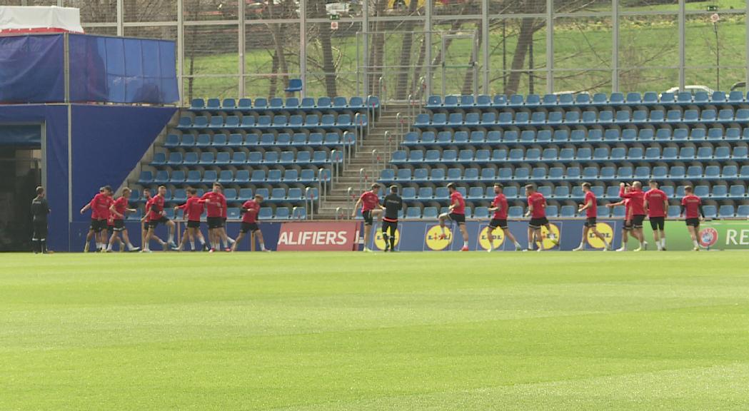
[[(580, 245), (580, 235), (583, 231), (583, 219), (551, 219), (552, 231), (559, 234), (561, 242), (560, 247), (554, 247), (553, 250), (569, 251)], [(130, 238), (136, 245), (139, 244), (140, 225), (138, 222), (126, 222), (127, 229), (130, 232)], [(488, 249), (488, 220), (469, 221), (466, 223), (468, 228), (468, 246), (472, 251), (485, 251)], [(369, 246), (375, 251), (381, 251), (385, 247), (385, 242), (380, 231), (380, 224), (375, 225), (375, 236), (370, 241)], [(527, 246), (527, 220), (516, 220), (509, 222), (509, 228), (512, 234), (523, 246)], [(227, 233), (229, 237), (237, 237), (240, 229), (240, 222), (230, 221), (227, 223)], [(350, 251), (360, 249), (363, 245), (360, 236), (362, 235), (362, 222), (261, 222), (260, 229), (263, 232), (265, 245), (268, 249), (274, 251), (319, 251), (319, 250), (338, 250)], [(447, 225), (446, 239), (439, 240), (437, 236), (441, 234), (439, 223), (436, 221), (401, 221), (398, 224), (398, 231), (395, 233), (395, 249), (401, 252), (438, 252), (438, 251), (458, 251), (461, 248), (462, 241), (460, 232), (456, 226)], [(71, 229), (71, 240), (73, 241), (71, 249), (79, 251), (83, 249), (85, 243), (88, 223), (73, 222)], [(178, 231), (184, 231), (184, 223), (178, 222)], [(203, 227), (203, 234), (207, 236), (207, 231)], [(544, 236), (547, 231), (542, 228)], [(598, 231), (607, 238), (608, 241), (613, 239), (613, 245), (617, 248), (622, 241), (622, 220), (620, 219), (601, 219), (598, 221)], [(284, 234), (286, 233), (286, 234)], [(293, 236), (291, 235), (293, 233)], [(311, 234), (304, 234), (311, 233)], [(325, 233), (325, 234), (312, 234)], [(330, 233), (335, 234), (335, 236)], [(160, 226), (157, 228), (157, 235), (166, 240), (166, 228)], [(353, 236), (351, 236), (353, 234)], [(649, 249), (655, 249), (652, 245), (652, 231), (645, 222), (644, 234), (646, 240), (651, 243)], [(283, 236), (286, 236), (285, 239)], [(458, 236), (455, 240), (455, 236)], [(513, 251), (515, 246), (505, 240), (501, 230), (494, 232), (494, 247), (497, 251)], [(345, 238), (345, 241), (343, 241)], [(670, 251), (688, 251), (692, 249), (691, 240), (683, 220), (667, 220), (666, 222), (667, 249)], [(328, 242), (330, 240), (330, 243)], [(338, 243), (338, 242), (342, 243)], [(324, 243), (324, 244), (314, 244)], [(335, 244), (331, 244), (335, 243)], [(749, 250), (749, 221), (747, 220), (713, 220), (703, 222), (700, 226), (700, 244), (709, 250)], [(550, 241), (545, 240), (545, 247), (553, 246)], [(586, 243), (586, 249), (600, 249), (602, 245), (595, 237), (589, 237)], [(628, 243), (629, 249), (634, 249), (637, 244), (634, 240)], [(158, 250), (158, 246), (151, 244), (151, 249)], [(239, 251), (249, 251), (249, 240), (244, 240), (238, 249)]]

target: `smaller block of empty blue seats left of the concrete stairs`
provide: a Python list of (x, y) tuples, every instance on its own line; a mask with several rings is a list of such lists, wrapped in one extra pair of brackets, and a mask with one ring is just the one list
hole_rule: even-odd
[(163, 184), (178, 204), (188, 186), (205, 192), (219, 181), (232, 210), (261, 194), (262, 216), (306, 218), (379, 107), (377, 97), (192, 100), (142, 165), (136, 192)]

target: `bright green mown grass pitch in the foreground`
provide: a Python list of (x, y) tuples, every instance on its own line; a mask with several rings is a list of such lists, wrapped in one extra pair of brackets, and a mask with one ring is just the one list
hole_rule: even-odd
[(747, 410), (741, 252), (2, 255), (0, 410)]

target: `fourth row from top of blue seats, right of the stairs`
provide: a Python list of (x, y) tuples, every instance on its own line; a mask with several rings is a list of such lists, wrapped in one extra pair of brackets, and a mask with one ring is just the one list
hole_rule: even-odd
[(465, 148), (462, 150), (396, 150), (392, 153), (394, 164), (420, 163), (486, 163), (486, 162), (640, 162), (640, 161), (740, 161), (749, 156), (749, 147), (721, 145), (694, 147), (549, 147), (497, 148), (494, 150)]

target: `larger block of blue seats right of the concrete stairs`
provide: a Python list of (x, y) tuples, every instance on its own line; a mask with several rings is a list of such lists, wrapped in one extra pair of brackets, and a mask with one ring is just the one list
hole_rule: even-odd
[(432, 207), (448, 202), (437, 192), (451, 181), (474, 210), (488, 206), (497, 181), (512, 207), (524, 207), (532, 182), (551, 210), (575, 216), (583, 181), (603, 204), (619, 200), (620, 181), (650, 179), (673, 206), (690, 184), (715, 216), (747, 217), (748, 106), (739, 91), (431, 96), (380, 181), (408, 189), (418, 210), (410, 218), (434, 218)]

